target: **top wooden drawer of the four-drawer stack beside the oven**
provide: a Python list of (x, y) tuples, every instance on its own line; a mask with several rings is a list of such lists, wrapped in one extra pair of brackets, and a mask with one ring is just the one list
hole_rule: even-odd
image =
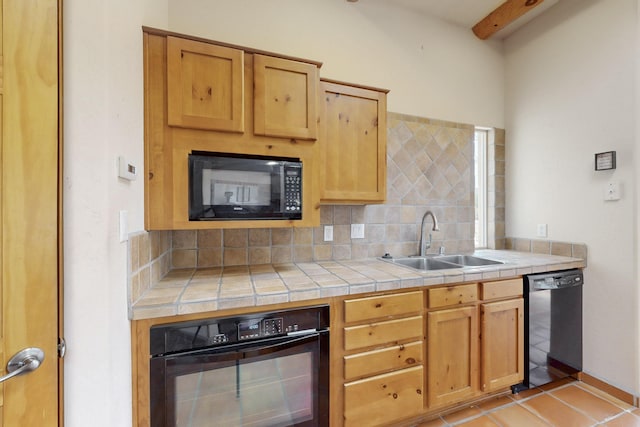
[(344, 302), (345, 323), (360, 322), (386, 316), (417, 313), (422, 310), (422, 292), (407, 292)]

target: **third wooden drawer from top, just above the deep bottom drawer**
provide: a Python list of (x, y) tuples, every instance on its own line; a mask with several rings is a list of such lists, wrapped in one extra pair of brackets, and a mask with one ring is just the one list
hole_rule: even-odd
[(367, 351), (344, 358), (344, 379), (409, 368), (422, 363), (422, 342), (395, 345), (382, 350)]

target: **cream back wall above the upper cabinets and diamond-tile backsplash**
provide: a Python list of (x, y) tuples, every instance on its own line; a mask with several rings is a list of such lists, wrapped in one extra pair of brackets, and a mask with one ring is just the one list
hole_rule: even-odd
[(389, 111), (504, 127), (502, 43), (386, 0), (169, 0), (172, 31), (323, 62)]

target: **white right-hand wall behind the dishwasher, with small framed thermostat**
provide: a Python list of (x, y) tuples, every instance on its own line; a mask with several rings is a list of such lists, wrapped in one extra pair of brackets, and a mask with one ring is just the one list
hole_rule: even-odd
[(584, 370), (636, 395), (637, 3), (563, 0), (505, 43), (507, 235), (587, 244)]

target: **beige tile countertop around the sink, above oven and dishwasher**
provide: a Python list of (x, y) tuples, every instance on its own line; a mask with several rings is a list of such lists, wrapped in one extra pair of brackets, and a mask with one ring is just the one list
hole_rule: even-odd
[(504, 264), (419, 272), (377, 258), (172, 270), (129, 307), (131, 320), (583, 268), (566, 256), (477, 250)]

